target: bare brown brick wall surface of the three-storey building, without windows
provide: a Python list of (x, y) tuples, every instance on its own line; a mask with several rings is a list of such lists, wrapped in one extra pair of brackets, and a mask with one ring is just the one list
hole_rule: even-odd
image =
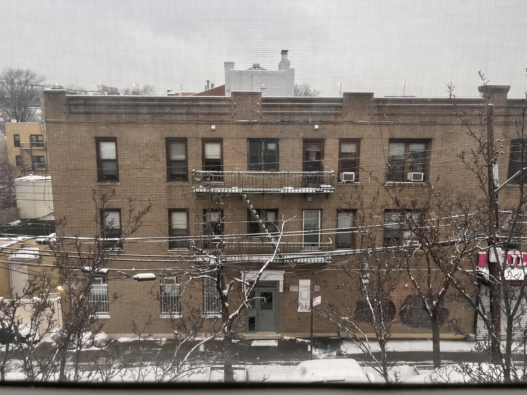
[[(504, 97), (503, 97), (504, 95)], [(122, 97), (122, 96), (67, 96), (65, 91), (45, 91), (46, 128), (50, 169), (52, 175), (55, 218), (67, 219), (66, 231), (93, 236), (98, 230), (93, 223), (91, 191), (97, 194), (115, 190), (110, 208), (126, 209), (126, 197), (135, 197), (136, 207), (152, 204), (152, 212), (145, 216), (137, 238), (152, 238), (148, 242), (125, 242), (120, 260), (112, 262), (115, 269), (148, 269), (162, 273), (162, 268), (177, 266), (177, 255), (167, 253), (169, 242), (169, 210), (190, 210), (190, 235), (199, 234), (203, 209), (221, 206), (225, 214), (224, 234), (247, 233), (247, 206), (240, 193), (223, 193), (214, 201), (210, 195), (197, 196), (192, 192), (191, 170), (202, 169), (202, 139), (222, 139), (223, 171), (248, 171), (248, 139), (276, 139), (279, 141), (279, 170), (300, 172), (303, 169), (304, 141), (324, 141), (324, 170), (338, 171), (340, 139), (357, 139), (360, 166), (370, 173), (360, 172), (357, 183), (335, 184), (335, 192), (328, 193), (252, 193), (248, 197), (254, 208), (278, 209), (284, 215), (286, 231), (302, 231), (302, 210), (321, 210), (321, 229), (335, 229), (337, 210), (348, 209), (345, 196), (362, 191), (366, 200), (372, 199), (384, 182), (385, 157), (388, 142), (394, 139), (427, 141), (430, 157), (426, 179), (438, 185), (466, 192), (479, 193), (470, 171), (464, 169), (457, 153), (471, 144), (465, 126), (455, 117), (446, 99), (374, 98), (370, 93), (345, 93), (343, 98), (277, 98), (261, 97), (259, 92), (233, 92), (231, 97)], [(495, 97), (495, 137), (515, 137), (514, 116), (521, 102), (507, 100), (506, 92)], [(483, 99), (461, 99), (466, 111), (474, 114)], [(212, 125), (215, 129), (212, 130)], [(318, 125), (318, 129), (315, 129)], [(118, 148), (119, 181), (97, 181), (96, 137), (114, 137)], [(167, 181), (167, 139), (187, 141), (189, 181)], [(507, 141), (508, 143), (508, 141)], [(506, 179), (509, 145), (499, 160), (500, 179)], [(402, 196), (411, 199), (423, 188), (421, 183), (405, 184)], [(513, 199), (514, 187), (501, 193), (501, 201)], [(311, 198), (308, 202), (307, 197)], [(513, 201), (513, 200), (511, 200)], [(381, 193), (379, 203), (391, 208), (389, 196)], [(353, 208), (351, 208), (353, 209)], [(198, 213), (198, 215), (194, 215)], [(382, 219), (379, 219), (382, 223)], [(326, 232), (323, 242), (333, 242), (335, 234)], [(165, 238), (165, 239), (155, 239)], [(161, 240), (161, 241), (160, 241)], [(301, 242), (301, 236), (290, 241)], [(250, 253), (232, 247), (233, 254)], [(141, 256), (148, 255), (148, 260)], [(156, 256), (157, 258), (153, 258)], [(172, 256), (172, 258), (170, 258)], [(127, 261), (126, 259), (129, 259)], [(344, 297), (337, 285), (344, 274), (338, 262), (345, 257), (333, 256), (330, 263), (273, 263), (270, 269), (285, 270), (284, 292), (279, 293), (279, 333), (305, 336), (309, 332), (309, 313), (298, 312), (298, 292), (290, 285), (299, 279), (311, 280), (311, 295), (320, 294), (324, 303), (334, 303), (353, 314), (355, 300)], [(258, 263), (247, 263), (246, 269), (259, 269)], [(176, 270), (177, 271), (177, 270)], [(173, 270), (169, 270), (173, 272)], [(239, 272), (233, 273), (235, 276)], [(405, 284), (408, 284), (406, 287)], [(314, 291), (320, 286), (320, 292)], [(186, 298), (189, 303), (202, 303), (201, 285), (194, 285)], [(111, 318), (105, 331), (113, 334), (131, 332), (131, 320), (155, 318), (154, 333), (169, 333), (167, 319), (159, 318), (160, 303), (153, 295), (159, 282), (135, 283), (109, 281), (109, 294), (122, 297), (110, 306)], [(412, 284), (402, 276), (393, 293), (396, 308), (412, 294)], [(192, 300), (190, 300), (192, 295)], [(473, 325), (474, 313), (454, 297), (446, 298), (449, 319), (462, 322), (466, 329)], [(348, 315), (349, 317), (349, 315)], [(240, 325), (242, 325), (240, 323)], [(393, 337), (430, 337), (429, 329), (417, 324), (396, 323)], [(318, 335), (336, 335), (336, 327), (315, 322)], [(449, 323), (442, 327), (442, 335), (453, 337)]]

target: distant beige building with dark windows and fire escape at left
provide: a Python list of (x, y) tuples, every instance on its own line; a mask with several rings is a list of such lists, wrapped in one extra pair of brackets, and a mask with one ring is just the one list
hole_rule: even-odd
[(7, 159), (20, 170), (48, 176), (46, 126), (40, 123), (6, 123)]

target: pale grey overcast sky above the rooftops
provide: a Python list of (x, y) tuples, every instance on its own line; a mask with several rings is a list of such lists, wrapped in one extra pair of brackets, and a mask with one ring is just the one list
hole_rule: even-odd
[(527, 90), (527, 1), (0, 0), (0, 68), (48, 83), (199, 91), (223, 84), (223, 62), (276, 70), (289, 50), (296, 82), (325, 96), (374, 92), (478, 96)]

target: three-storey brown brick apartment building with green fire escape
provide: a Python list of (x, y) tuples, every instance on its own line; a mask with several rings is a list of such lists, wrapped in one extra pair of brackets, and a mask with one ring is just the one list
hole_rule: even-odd
[[(514, 117), (522, 101), (507, 97), (509, 87), (486, 89), (494, 104), (495, 137), (506, 142), (498, 161), (505, 180), (518, 167)], [(483, 98), (458, 100), (467, 111), (482, 103)], [(410, 200), (432, 180), (479, 193), (473, 174), (456, 156), (472, 141), (446, 98), (262, 97), (261, 92), (110, 97), (50, 90), (44, 91), (44, 105), (47, 135), (41, 133), (44, 147), (33, 151), (48, 143), (55, 218), (66, 218), (66, 234), (93, 237), (101, 231), (93, 221), (98, 214), (92, 190), (113, 193), (101, 213), (108, 238), (126, 232), (128, 198), (136, 209), (152, 206), (134, 239), (119, 246), (111, 269), (155, 272), (157, 280), (116, 281), (110, 272), (94, 290), (104, 330), (113, 336), (131, 333), (132, 320), (149, 317), (153, 333), (170, 333), (169, 316), (186, 314), (189, 305), (214, 325), (216, 291), (207, 280), (186, 283), (182, 268), (218, 256), (242, 287), (271, 258), (285, 220), (279, 253), (256, 289), (265, 302), (240, 319), (239, 333), (305, 337), (311, 297), (320, 295), (323, 306), (347, 307), (348, 317), (359, 311), (358, 301), (342, 290), (349, 278), (341, 265), (361, 243), (353, 232), (357, 207), (347, 204), (346, 196), (360, 193), (369, 201), (379, 182), (398, 183), (403, 199)], [(23, 135), (22, 124), (8, 126), (8, 140), (15, 130)], [(515, 187), (506, 187), (500, 203), (514, 199)], [(387, 194), (381, 190), (378, 199), (391, 213)], [(385, 214), (378, 222), (391, 219), (393, 214)], [(389, 224), (379, 232), (384, 245), (403, 244), (404, 229)], [(412, 292), (402, 274), (392, 292), (396, 309)], [(114, 293), (121, 297), (111, 303)], [(473, 327), (474, 312), (464, 303), (450, 298), (444, 309), (442, 337), (455, 337), (452, 319), (467, 331)], [(337, 327), (315, 320), (314, 332), (335, 336)], [(392, 327), (392, 337), (430, 335), (425, 323)]]

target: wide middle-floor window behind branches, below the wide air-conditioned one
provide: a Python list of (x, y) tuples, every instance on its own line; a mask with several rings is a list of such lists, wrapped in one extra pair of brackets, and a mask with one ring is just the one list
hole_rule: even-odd
[(385, 211), (384, 212), (384, 246), (407, 246), (416, 242), (415, 233), (410, 228), (416, 226), (419, 213), (416, 211)]

